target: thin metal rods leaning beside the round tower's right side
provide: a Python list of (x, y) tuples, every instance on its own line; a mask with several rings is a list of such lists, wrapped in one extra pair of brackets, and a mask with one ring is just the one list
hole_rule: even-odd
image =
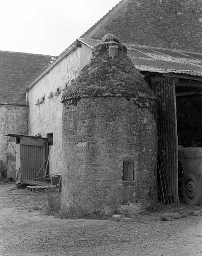
[(170, 186), (168, 183), (166, 163), (162, 154), (159, 154), (157, 163), (159, 200), (163, 204), (173, 204), (172, 195), (170, 193)]

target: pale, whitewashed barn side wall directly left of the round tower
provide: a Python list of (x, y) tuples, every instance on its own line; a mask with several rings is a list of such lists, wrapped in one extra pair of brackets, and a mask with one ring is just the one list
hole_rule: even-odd
[(75, 49), (28, 91), (29, 135), (41, 134), (42, 137), (46, 137), (48, 133), (53, 133), (54, 157), (52, 160), (54, 163), (52, 163), (52, 166), (55, 166), (55, 170), (52, 170), (52, 174), (61, 172), (61, 96), (66, 86), (69, 86), (71, 80), (78, 75), (80, 52), (81, 48)]

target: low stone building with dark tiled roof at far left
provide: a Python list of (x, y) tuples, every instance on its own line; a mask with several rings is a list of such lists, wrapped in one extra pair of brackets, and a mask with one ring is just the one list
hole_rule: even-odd
[(15, 139), (28, 133), (26, 87), (55, 60), (49, 55), (0, 51), (0, 177), (15, 178)]

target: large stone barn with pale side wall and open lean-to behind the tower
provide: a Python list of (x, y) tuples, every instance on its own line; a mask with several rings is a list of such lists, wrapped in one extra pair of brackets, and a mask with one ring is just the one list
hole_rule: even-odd
[(112, 33), (156, 94), (159, 153), (178, 202), (178, 145), (201, 143), (201, 26), (198, 0), (122, 0), (32, 80), (26, 89), (26, 131), (52, 138), (50, 173), (62, 172), (63, 92), (88, 63), (92, 48)]

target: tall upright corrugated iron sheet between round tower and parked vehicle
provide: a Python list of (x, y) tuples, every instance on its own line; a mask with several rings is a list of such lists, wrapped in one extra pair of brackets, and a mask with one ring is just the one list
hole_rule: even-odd
[(170, 192), (179, 201), (177, 177), (177, 119), (175, 84), (178, 79), (154, 78), (152, 87), (158, 98), (159, 155), (164, 159)]

